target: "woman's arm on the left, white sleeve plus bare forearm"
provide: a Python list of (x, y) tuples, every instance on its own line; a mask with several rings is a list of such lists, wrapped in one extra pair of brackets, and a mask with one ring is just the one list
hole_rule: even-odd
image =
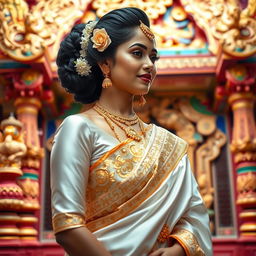
[(85, 198), (93, 134), (80, 116), (69, 116), (56, 132), (51, 152), (52, 223), (56, 241), (70, 256), (109, 256), (85, 227)]

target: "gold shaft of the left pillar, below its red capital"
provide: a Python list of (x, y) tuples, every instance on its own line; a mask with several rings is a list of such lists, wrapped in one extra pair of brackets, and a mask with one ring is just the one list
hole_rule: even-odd
[(24, 204), (23, 211), (20, 214), (21, 227), (20, 235), (24, 240), (36, 240), (37, 230), (34, 224), (37, 218), (34, 214), (40, 208), (39, 205), (39, 169), (40, 161), (43, 157), (43, 149), (40, 147), (38, 135), (38, 110), (41, 108), (41, 102), (33, 97), (19, 97), (15, 101), (17, 117), (24, 124), (25, 143), (27, 145), (27, 154), (22, 161), (23, 175), (19, 178), (19, 185), (23, 189)]

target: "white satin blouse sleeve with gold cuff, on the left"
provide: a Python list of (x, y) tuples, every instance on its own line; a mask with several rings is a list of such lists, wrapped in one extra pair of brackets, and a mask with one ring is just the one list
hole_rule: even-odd
[(54, 137), (50, 169), (55, 233), (85, 225), (91, 137), (86, 122), (75, 115), (62, 122)]

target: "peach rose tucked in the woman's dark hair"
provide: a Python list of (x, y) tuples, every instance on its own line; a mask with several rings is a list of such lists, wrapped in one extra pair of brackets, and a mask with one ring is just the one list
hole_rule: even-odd
[(93, 48), (96, 48), (99, 52), (105, 51), (111, 43), (111, 39), (105, 28), (94, 29), (91, 40), (93, 42)]

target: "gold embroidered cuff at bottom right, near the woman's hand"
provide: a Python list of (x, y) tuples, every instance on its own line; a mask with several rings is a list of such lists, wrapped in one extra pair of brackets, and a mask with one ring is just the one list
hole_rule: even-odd
[(170, 238), (176, 239), (184, 248), (186, 255), (189, 256), (205, 256), (204, 251), (198, 244), (196, 237), (185, 229), (174, 231)]

